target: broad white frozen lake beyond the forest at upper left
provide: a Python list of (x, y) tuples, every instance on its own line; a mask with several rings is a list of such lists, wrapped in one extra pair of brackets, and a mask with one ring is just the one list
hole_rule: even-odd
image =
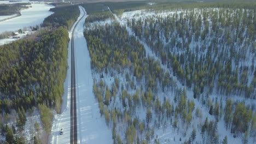
[(53, 5), (33, 3), (31, 5), (32, 8), (21, 10), (21, 16), (0, 22), (0, 33), (40, 25), (45, 17), (53, 14), (49, 11), (50, 8), (54, 8)]

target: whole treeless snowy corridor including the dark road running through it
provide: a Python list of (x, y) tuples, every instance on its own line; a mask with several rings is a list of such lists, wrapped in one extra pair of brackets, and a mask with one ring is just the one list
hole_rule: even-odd
[(83, 7), (79, 9), (80, 16), (69, 32), (69, 69), (64, 83), (62, 113), (54, 116), (49, 143), (113, 143), (112, 131), (101, 117), (92, 92), (91, 59), (83, 34), (88, 15)]

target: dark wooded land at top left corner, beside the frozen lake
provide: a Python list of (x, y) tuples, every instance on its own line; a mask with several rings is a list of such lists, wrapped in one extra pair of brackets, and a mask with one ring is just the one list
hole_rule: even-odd
[(21, 9), (27, 9), (30, 5), (30, 3), (0, 4), (0, 16), (20, 14)]

